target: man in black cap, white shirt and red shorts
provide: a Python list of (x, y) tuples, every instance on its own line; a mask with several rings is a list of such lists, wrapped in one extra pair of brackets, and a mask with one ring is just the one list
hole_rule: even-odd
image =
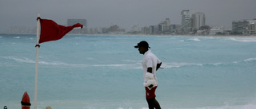
[(144, 86), (146, 89), (146, 101), (149, 105), (149, 109), (161, 109), (158, 101), (155, 99), (155, 90), (158, 88), (158, 80), (156, 78), (156, 72), (160, 68), (162, 62), (151, 53), (150, 46), (146, 41), (141, 41), (138, 45), (134, 46), (138, 48), (139, 53), (143, 54), (142, 67), (144, 76)]

